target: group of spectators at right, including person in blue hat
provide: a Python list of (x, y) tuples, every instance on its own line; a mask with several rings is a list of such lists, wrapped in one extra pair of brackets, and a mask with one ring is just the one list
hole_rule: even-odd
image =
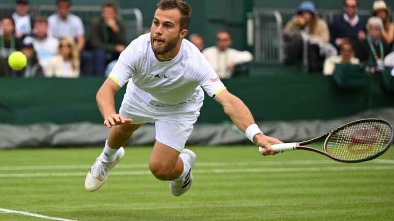
[(312, 2), (300, 4), (297, 14), (284, 27), (286, 64), (303, 61), (307, 39), (311, 72), (331, 75), (338, 63), (362, 64), (369, 73), (380, 73), (392, 66), (394, 54), (388, 54), (393, 51), (394, 25), (387, 4), (383, 0), (375, 1), (371, 16), (364, 21), (358, 14), (357, 0), (343, 3), (343, 14), (334, 17), (330, 25), (318, 17)]

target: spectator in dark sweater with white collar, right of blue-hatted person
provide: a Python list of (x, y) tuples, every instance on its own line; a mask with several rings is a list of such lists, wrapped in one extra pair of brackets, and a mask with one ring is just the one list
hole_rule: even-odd
[(345, 0), (343, 15), (334, 17), (330, 29), (331, 43), (336, 47), (344, 41), (355, 42), (365, 40), (365, 21), (358, 15), (359, 1)]

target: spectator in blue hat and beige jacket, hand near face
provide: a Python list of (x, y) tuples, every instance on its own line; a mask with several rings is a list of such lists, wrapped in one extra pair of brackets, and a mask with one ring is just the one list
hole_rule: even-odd
[(285, 26), (284, 33), (288, 36), (306, 32), (309, 40), (328, 42), (330, 34), (327, 23), (317, 15), (312, 2), (302, 2), (295, 15)]

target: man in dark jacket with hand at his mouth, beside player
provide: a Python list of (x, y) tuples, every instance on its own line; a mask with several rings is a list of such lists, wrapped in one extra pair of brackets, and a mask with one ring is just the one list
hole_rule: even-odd
[(107, 63), (117, 60), (126, 48), (125, 26), (117, 19), (117, 8), (106, 3), (101, 17), (92, 24), (90, 41), (94, 51), (95, 74), (104, 76)]

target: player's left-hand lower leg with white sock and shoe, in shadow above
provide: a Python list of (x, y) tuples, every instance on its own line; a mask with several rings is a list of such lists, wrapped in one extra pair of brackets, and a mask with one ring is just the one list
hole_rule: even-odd
[(127, 124), (111, 128), (103, 152), (86, 175), (86, 190), (95, 191), (107, 181), (111, 169), (119, 164), (125, 155), (125, 150), (122, 146), (127, 143), (134, 131), (140, 126), (141, 124)]

